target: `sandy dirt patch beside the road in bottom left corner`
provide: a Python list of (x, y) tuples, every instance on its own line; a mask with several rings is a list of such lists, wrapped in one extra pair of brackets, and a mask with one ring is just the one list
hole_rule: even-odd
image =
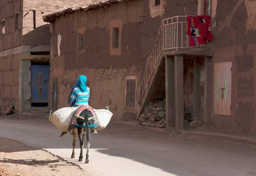
[(0, 138), (0, 176), (88, 176), (44, 150)]

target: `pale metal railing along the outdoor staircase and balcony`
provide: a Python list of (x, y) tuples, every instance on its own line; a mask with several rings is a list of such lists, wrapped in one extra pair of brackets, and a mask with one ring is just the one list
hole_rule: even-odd
[[(153, 80), (151, 77), (154, 71), (157, 70), (158, 61), (163, 52), (178, 48), (192, 48), (189, 46), (189, 36), (186, 34), (188, 31), (186, 19), (187, 16), (176, 16), (162, 21), (153, 50), (145, 67), (145, 73), (137, 87), (138, 111), (139, 103), (143, 95), (148, 91), (149, 85)], [(210, 43), (209, 45), (199, 45), (199, 47), (211, 47), (211, 45)]]

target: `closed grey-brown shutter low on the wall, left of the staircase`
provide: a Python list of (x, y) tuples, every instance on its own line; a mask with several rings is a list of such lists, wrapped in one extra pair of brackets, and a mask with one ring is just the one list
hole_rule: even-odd
[(136, 79), (127, 79), (126, 84), (126, 107), (134, 108)]

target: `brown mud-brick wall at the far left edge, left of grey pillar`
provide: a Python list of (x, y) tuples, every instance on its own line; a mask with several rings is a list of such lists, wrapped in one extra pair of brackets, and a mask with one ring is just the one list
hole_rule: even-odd
[[(12, 103), (16, 110), (19, 102), (19, 56), (22, 49), (22, 1), (1, 0), (0, 22), (5, 19), (5, 34), (0, 28), (0, 109)], [(15, 29), (15, 12), (18, 16), (18, 29)], [(15, 49), (13, 49), (15, 48)]]

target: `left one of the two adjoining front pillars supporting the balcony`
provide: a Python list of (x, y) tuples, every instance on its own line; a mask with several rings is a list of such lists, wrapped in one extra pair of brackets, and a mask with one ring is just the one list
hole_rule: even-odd
[(166, 129), (175, 128), (175, 70), (173, 56), (167, 56), (165, 60), (166, 79)]

